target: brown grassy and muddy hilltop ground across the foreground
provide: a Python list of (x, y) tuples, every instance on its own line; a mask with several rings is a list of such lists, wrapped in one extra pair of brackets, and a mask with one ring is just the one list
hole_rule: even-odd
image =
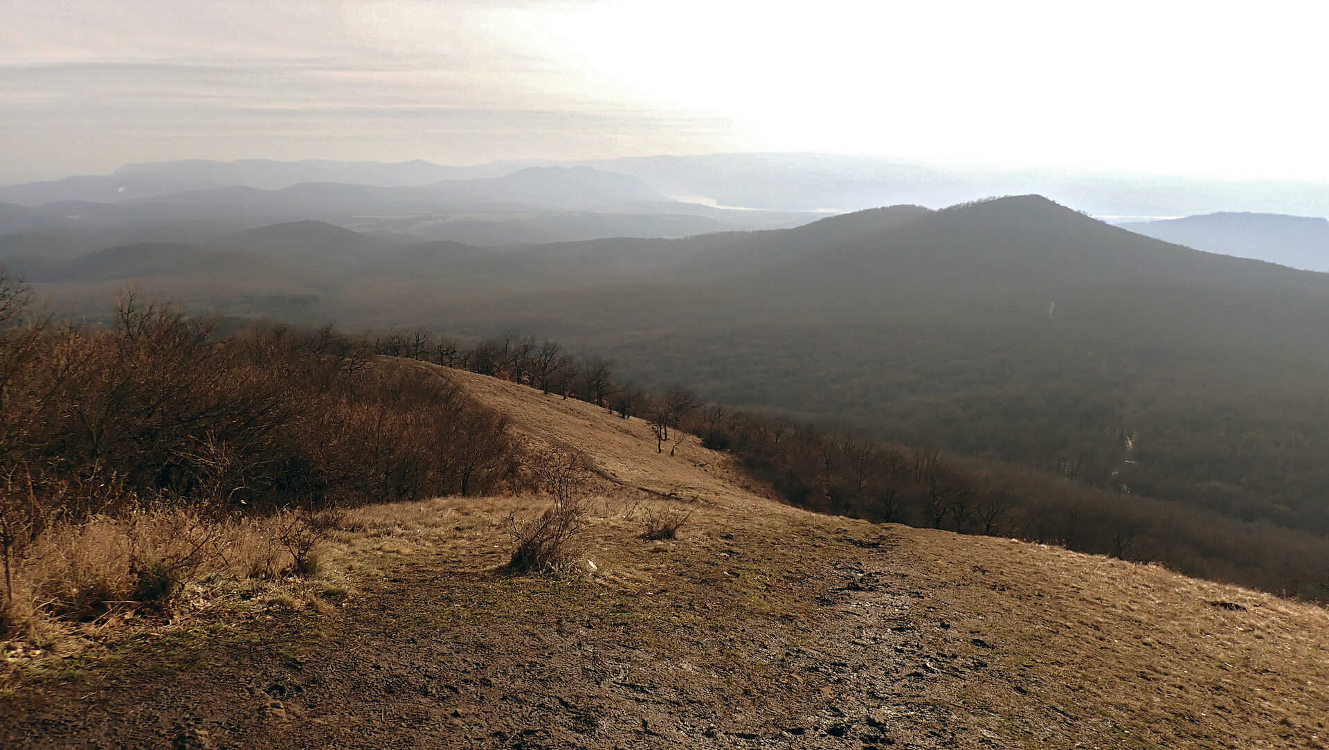
[[(0, 743), (1325, 746), (1322, 609), (804, 513), (695, 443), (658, 455), (641, 423), (459, 376), (595, 457), (594, 570), (498, 572), (500, 520), (536, 497), (368, 508), (330, 553), (358, 589), (335, 614), (89, 656), (5, 698)], [(680, 539), (638, 539), (653, 503), (695, 511)]]

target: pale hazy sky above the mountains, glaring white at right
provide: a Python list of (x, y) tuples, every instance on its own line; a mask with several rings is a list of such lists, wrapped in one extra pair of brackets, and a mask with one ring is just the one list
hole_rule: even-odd
[(0, 0), (0, 182), (819, 150), (1329, 181), (1329, 3)]

